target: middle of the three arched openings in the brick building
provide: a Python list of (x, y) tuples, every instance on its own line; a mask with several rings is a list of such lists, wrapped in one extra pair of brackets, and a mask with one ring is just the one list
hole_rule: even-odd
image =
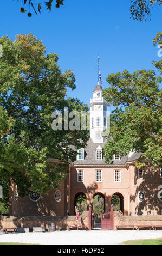
[(101, 214), (105, 212), (105, 197), (101, 193), (97, 193), (93, 197), (93, 212), (97, 218), (101, 218)]

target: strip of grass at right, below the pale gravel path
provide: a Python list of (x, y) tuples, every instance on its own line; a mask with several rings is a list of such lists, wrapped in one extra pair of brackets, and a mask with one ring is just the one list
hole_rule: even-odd
[(162, 245), (162, 238), (144, 239), (144, 240), (128, 240), (121, 243), (121, 245)]

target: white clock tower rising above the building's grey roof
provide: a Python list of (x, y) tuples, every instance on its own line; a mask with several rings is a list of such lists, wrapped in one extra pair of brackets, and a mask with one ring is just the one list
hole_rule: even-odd
[(102, 86), (98, 81), (93, 90), (93, 99), (90, 99), (90, 138), (94, 143), (103, 143), (103, 131), (107, 127), (107, 103), (102, 97)]

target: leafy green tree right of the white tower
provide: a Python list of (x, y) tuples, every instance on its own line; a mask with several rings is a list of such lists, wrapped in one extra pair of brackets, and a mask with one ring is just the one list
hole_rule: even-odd
[(142, 153), (137, 167), (145, 166), (144, 160), (154, 166), (161, 164), (161, 77), (152, 70), (127, 70), (109, 74), (110, 86), (103, 91), (108, 105), (115, 106), (111, 129), (103, 152), (108, 164), (113, 155), (129, 154), (130, 150)]

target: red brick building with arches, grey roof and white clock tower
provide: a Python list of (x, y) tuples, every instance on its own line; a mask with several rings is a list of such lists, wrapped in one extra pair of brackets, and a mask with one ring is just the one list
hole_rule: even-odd
[[(121, 157), (114, 155), (113, 164), (107, 165), (102, 157), (106, 138), (102, 136), (107, 127), (107, 104), (102, 97), (99, 82), (90, 99), (90, 139), (85, 149), (80, 149), (76, 161), (69, 164), (69, 174), (61, 186), (48, 194), (30, 193), (18, 197), (16, 185), (10, 190), (9, 215), (12, 216), (63, 216), (74, 215), (76, 198), (85, 194), (87, 209), (93, 206), (93, 198), (104, 198), (104, 211), (111, 208), (114, 194), (120, 198), (124, 215), (162, 215), (162, 172), (151, 162), (147, 167), (135, 168), (140, 153), (130, 152)], [(55, 162), (56, 160), (50, 159)]]

